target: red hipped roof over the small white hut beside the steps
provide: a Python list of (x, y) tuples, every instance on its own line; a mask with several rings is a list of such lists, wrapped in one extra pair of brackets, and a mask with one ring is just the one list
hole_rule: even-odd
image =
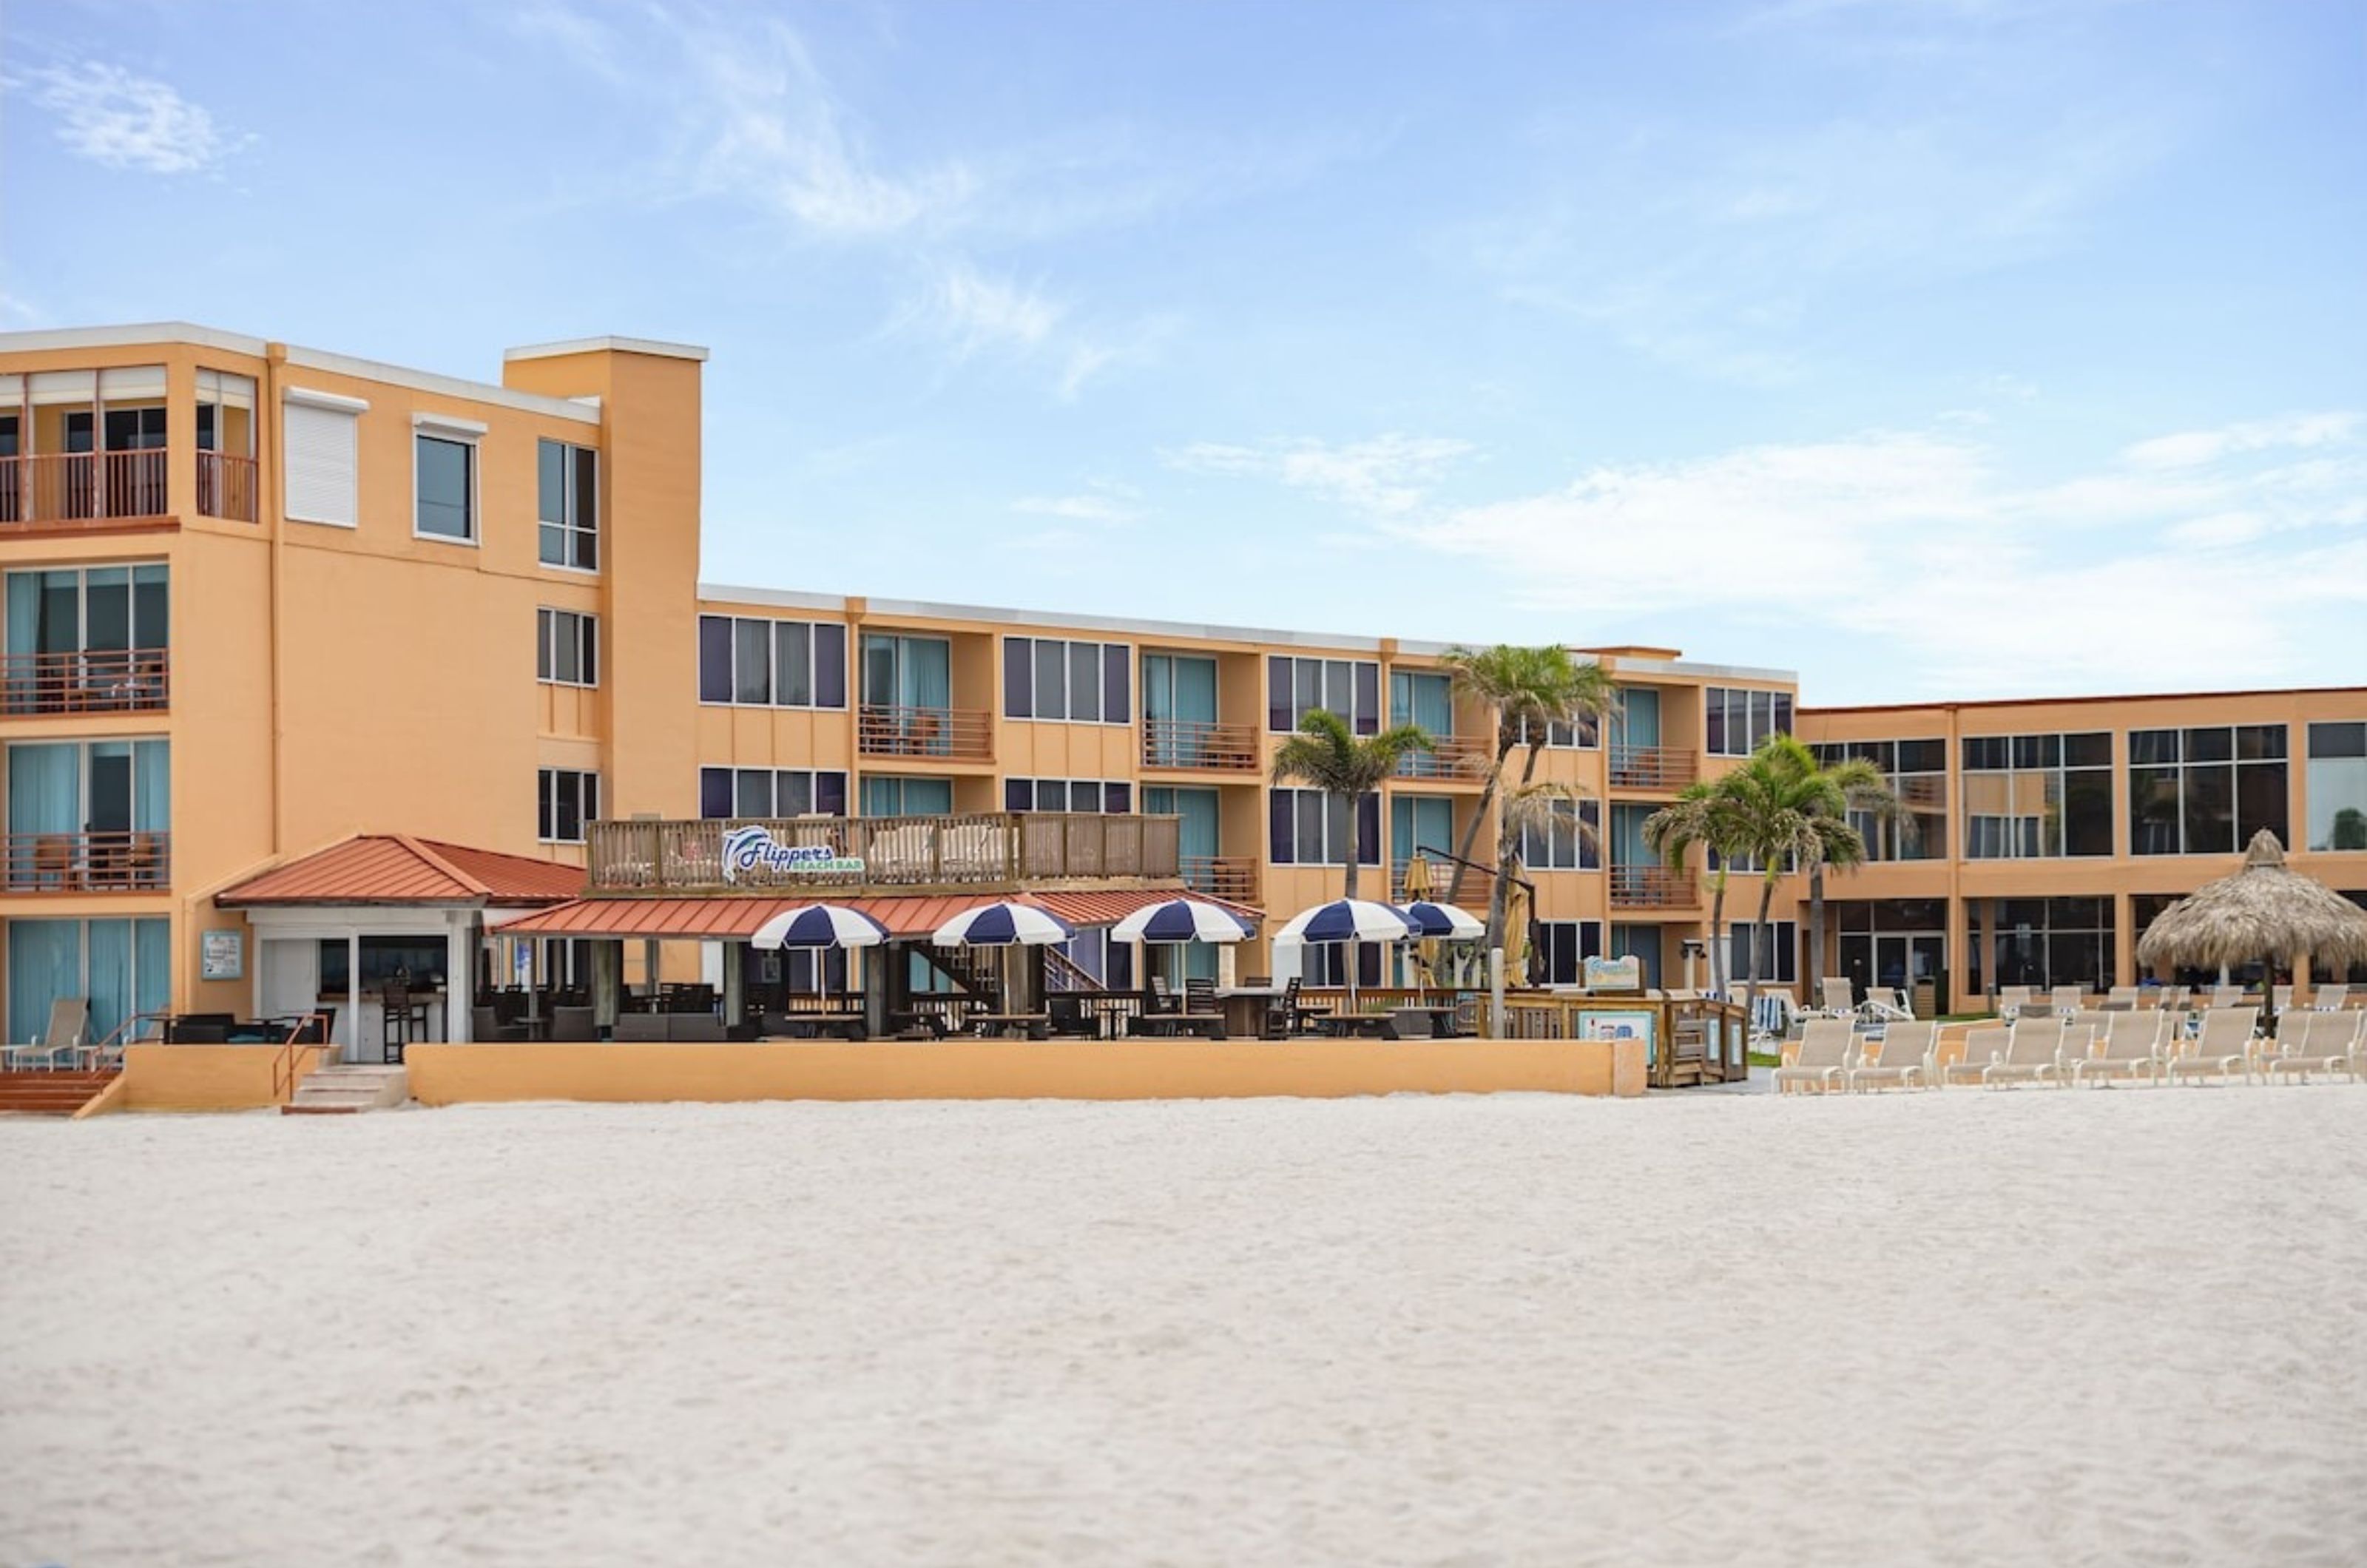
[(556, 905), (585, 888), (582, 867), (362, 834), (301, 855), (213, 895), (239, 905)]

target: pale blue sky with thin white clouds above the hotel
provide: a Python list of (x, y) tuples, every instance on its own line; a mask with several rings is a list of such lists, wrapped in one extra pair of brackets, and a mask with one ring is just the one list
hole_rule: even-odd
[(2367, 680), (2358, 0), (0, 26), (0, 327), (708, 343), (712, 580)]

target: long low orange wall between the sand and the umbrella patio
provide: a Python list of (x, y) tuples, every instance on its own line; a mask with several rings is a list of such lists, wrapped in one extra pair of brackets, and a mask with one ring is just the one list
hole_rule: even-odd
[(1643, 1094), (1636, 1040), (414, 1045), (426, 1106), (497, 1099)]

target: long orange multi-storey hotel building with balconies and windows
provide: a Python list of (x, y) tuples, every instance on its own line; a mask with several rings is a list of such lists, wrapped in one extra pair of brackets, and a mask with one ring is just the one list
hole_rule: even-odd
[[(1437, 642), (701, 583), (703, 360), (587, 339), (514, 348), (478, 384), (187, 324), (0, 336), (7, 1037), (59, 995), (107, 1033), (166, 1007), (282, 1011), (275, 985), (433, 966), (447, 938), (471, 962), (466, 931), (552, 905), (632, 822), (1160, 817), (1188, 886), (1288, 914), (1342, 888), (1344, 822), (1269, 782), (1314, 706), (1439, 741), (1359, 808), (1368, 891), (1463, 846), (1489, 734)], [(1815, 708), (1782, 670), (1586, 651), (1624, 701), (1536, 737), (1539, 777), (1588, 796), (1527, 855), (1550, 981), (1598, 952), (1683, 978), (1704, 867), (1664, 867), (1643, 822), (1785, 730), (1875, 758), (1915, 808), (1827, 879), (1830, 940), (1834, 971), (1936, 1007), (2133, 981), (2152, 912), (2258, 827), (2367, 902), (2367, 687)], [(450, 907), (398, 917), (405, 876)], [(331, 895), (348, 924), (388, 912), (372, 950), (305, 924)], [(712, 966), (755, 902), (705, 900), (672, 933)], [(1737, 952), (1754, 907), (1740, 867)], [(1794, 983), (1801, 879), (1773, 914), (1773, 978)], [(263, 973), (267, 936), (305, 945), (301, 973)], [(552, 966), (578, 962), (552, 940)], [(1139, 981), (1098, 931), (1070, 957)], [(1337, 962), (1311, 955), (1309, 978)]]

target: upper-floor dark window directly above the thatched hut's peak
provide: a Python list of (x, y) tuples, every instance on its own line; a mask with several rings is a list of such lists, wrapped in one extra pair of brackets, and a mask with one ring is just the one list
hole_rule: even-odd
[(2284, 725), (2128, 732), (2133, 855), (2234, 855), (2263, 827), (2287, 841)]

